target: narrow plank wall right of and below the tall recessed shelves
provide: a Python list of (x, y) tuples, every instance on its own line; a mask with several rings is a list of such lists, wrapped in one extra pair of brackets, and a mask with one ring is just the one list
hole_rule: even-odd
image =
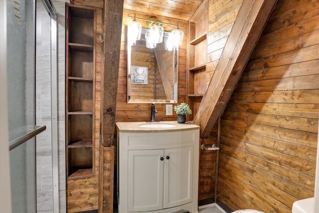
[[(98, 3), (99, 1), (94, 1)], [(103, 1), (102, 1), (103, 2)], [(85, 2), (74, 1), (74, 4), (85, 5)], [(98, 4), (100, 5), (100, 4)], [(102, 4), (103, 6), (103, 4)], [(99, 35), (103, 34), (102, 8), (96, 8), (96, 38), (95, 38), (95, 154), (94, 177), (66, 180), (66, 201), (68, 213), (77, 213), (98, 209), (99, 196), (99, 158), (100, 158), (100, 122), (101, 122), (101, 81), (103, 43)]]

